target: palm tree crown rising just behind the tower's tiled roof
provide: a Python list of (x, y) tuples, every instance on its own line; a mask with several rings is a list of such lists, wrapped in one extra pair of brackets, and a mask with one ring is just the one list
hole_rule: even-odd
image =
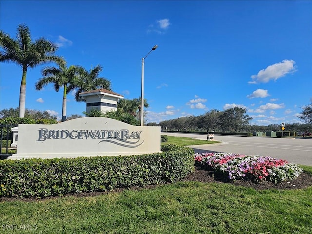
[(111, 91), (111, 82), (104, 77), (98, 77), (99, 73), (102, 71), (102, 66), (97, 65), (96, 67), (86, 71), (83, 69), (80, 72), (80, 78), (78, 79), (77, 88), (75, 94), (75, 99), (78, 102), (84, 101), (79, 97), (79, 93), (87, 92), (95, 89), (104, 88)]

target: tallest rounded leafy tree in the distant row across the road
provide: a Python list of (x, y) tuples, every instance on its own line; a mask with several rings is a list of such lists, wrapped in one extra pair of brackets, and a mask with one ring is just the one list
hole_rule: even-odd
[(220, 115), (220, 126), (223, 132), (226, 130), (238, 132), (242, 126), (248, 125), (253, 118), (246, 115), (246, 112), (246, 108), (237, 106), (223, 111)]

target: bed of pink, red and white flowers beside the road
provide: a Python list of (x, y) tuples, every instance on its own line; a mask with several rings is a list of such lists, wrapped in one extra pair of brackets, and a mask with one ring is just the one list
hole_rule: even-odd
[(274, 183), (296, 179), (302, 169), (295, 163), (259, 155), (196, 153), (195, 162), (228, 175), (229, 179), (270, 180)]

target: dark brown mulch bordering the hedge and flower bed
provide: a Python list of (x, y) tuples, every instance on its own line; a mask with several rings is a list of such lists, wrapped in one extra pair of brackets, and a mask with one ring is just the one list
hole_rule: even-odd
[[(308, 173), (301, 173), (300, 176), (296, 180), (286, 180), (284, 182), (275, 184), (271, 181), (264, 181), (261, 183), (250, 181), (250, 180), (236, 180), (232, 181), (227, 176), (222, 174), (215, 173), (215, 171), (209, 170), (208, 167), (202, 166), (200, 164), (195, 164), (195, 171), (190, 173), (186, 178), (182, 181), (198, 181), (203, 183), (227, 183), (233, 184), (235, 186), (244, 186), (254, 188), (256, 190), (264, 190), (264, 189), (304, 189), (309, 186), (312, 186), (312, 175)], [(145, 188), (155, 188), (157, 185), (150, 185)], [(77, 194), (66, 194), (66, 196), (74, 196), (74, 197), (86, 197), (86, 196), (97, 196), (102, 194), (108, 193), (118, 193), (125, 189), (129, 190), (139, 190), (142, 189), (141, 187), (131, 187), (131, 188), (117, 188), (113, 191), (106, 191), (106, 192), (84, 192), (84, 193), (77, 193)], [(44, 199), (55, 199), (58, 197), (48, 197)], [(37, 198), (25, 198), (25, 199), (17, 199), (17, 198), (10, 198), (10, 197), (1, 197), (0, 201), (36, 201), (39, 200)]]

